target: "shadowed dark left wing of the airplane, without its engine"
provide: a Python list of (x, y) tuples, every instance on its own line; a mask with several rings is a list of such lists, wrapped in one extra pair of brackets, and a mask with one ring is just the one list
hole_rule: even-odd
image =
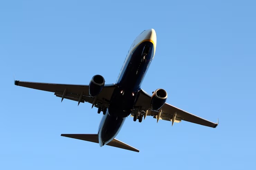
[[(112, 96), (115, 84), (106, 84), (101, 93), (95, 98), (89, 96), (89, 85), (75, 85), (75, 84), (55, 84), (55, 83), (38, 83), (38, 82), (26, 82), (26, 81), (15, 81), (15, 85), (28, 87), (32, 89), (44, 90), (54, 92), (54, 95), (61, 97), (62, 100), (70, 99), (80, 102), (94, 103), (95, 107), (99, 107), (98, 104), (108, 105)], [(61, 101), (62, 101), (61, 100)], [(108, 106), (104, 106), (108, 107)]]

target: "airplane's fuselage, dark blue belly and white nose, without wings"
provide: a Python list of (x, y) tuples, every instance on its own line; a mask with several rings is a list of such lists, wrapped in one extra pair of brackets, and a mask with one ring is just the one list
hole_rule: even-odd
[(140, 85), (154, 58), (156, 33), (154, 29), (143, 31), (131, 44), (124, 65), (117, 79), (107, 113), (103, 116), (98, 136), (103, 146), (113, 140), (131, 113), (138, 97)]

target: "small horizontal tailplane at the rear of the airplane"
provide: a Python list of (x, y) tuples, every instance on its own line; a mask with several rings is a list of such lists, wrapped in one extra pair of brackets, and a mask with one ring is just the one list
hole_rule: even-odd
[[(61, 134), (61, 136), (99, 143), (98, 134)], [(113, 139), (107, 145), (112, 146), (112, 147), (117, 147), (117, 148), (122, 148), (122, 149), (139, 152), (138, 149), (136, 149), (124, 142), (121, 142), (120, 140), (117, 140), (117, 139)]]

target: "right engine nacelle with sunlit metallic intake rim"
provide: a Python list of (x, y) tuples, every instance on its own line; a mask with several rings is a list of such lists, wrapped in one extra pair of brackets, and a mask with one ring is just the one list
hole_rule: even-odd
[(151, 97), (152, 110), (159, 110), (164, 106), (167, 99), (167, 92), (164, 89), (157, 89)]

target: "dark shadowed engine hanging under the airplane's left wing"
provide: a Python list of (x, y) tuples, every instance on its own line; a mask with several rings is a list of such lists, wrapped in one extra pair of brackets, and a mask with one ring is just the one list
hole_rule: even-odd
[(95, 75), (89, 84), (89, 95), (95, 97), (102, 91), (105, 84), (105, 80), (101, 75)]

